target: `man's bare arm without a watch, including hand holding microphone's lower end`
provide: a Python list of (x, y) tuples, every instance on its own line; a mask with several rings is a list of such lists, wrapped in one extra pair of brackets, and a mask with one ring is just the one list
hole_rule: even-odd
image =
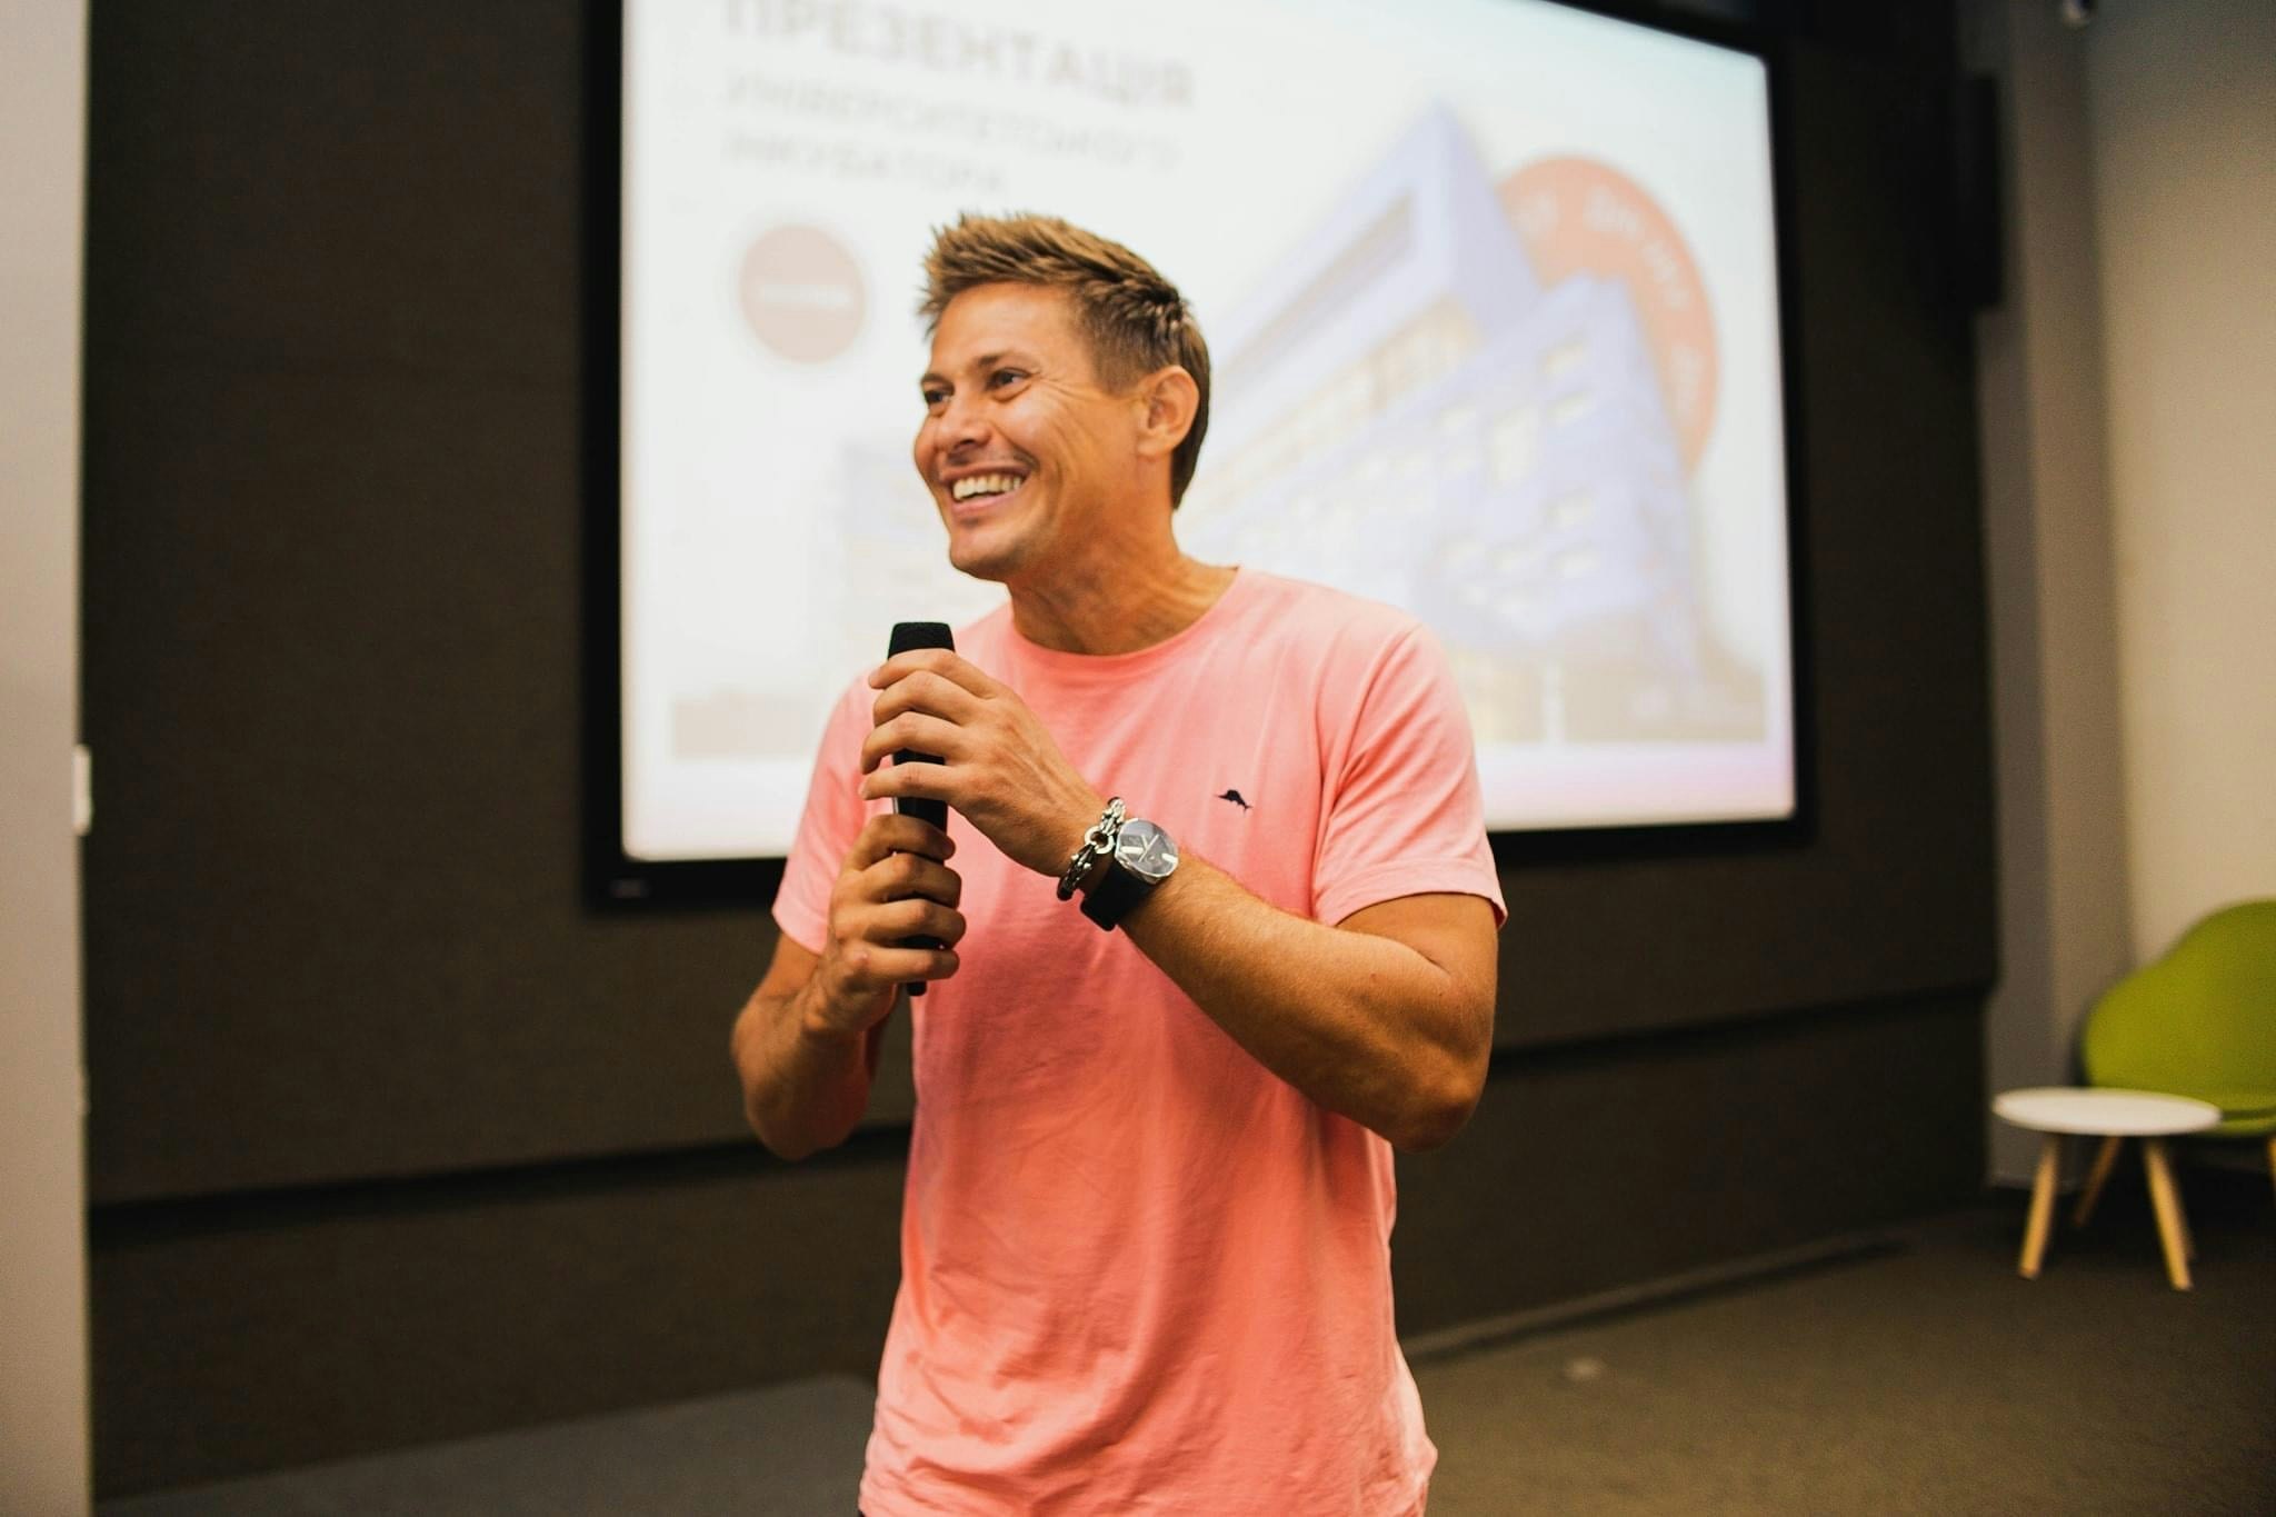
[[(735, 1017), (728, 1051), (742, 1110), (774, 1153), (799, 1160), (847, 1139), (869, 1105), (885, 1017), (901, 985), (956, 973), (963, 882), (949, 837), (915, 816), (874, 816), (831, 889), (822, 953), (781, 937)], [(906, 948), (935, 937), (947, 948)]]

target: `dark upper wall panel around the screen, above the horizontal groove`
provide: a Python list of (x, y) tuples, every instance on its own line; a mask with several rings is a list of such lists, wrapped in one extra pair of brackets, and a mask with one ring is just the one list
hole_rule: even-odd
[[(576, 894), (580, 66), (546, 5), (98, 9), (98, 1201), (740, 1133), (772, 923)], [(1504, 1046), (1991, 976), (1944, 116), (1789, 73), (1814, 835), (1509, 848)]]

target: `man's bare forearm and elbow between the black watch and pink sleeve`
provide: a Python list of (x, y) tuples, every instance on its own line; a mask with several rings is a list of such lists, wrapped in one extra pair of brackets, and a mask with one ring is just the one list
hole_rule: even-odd
[(1284, 912), (1190, 853), (1122, 930), (1265, 1069), (1400, 1149), (1443, 1144), (1477, 1103), (1491, 976), (1479, 996), (1404, 942)]

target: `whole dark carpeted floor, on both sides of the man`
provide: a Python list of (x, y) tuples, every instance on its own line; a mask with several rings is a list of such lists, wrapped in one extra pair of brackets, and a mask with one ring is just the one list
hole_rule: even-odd
[[(2037, 1280), (2003, 1194), (1846, 1260), (1418, 1356), (1432, 1517), (2276, 1512), (2276, 1196), (2187, 1185), (2187, 1294), (2121, 1169)], [(803, 1381), (100, 1517), (847, 1517), (867, 1424), (860, 1381)]]

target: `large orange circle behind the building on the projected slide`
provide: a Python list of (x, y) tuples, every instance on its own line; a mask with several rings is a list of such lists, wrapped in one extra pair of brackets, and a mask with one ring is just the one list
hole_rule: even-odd
[(1716, 348), (1707, 287), (1684, 234), (1641, 184), (1586, 157), (1518, 168), (1502, 180), (1502, 209), (1543, 284), (1575, 273), (1627, 280), (1684, 464), (1698, 466), (1714, 430)]

